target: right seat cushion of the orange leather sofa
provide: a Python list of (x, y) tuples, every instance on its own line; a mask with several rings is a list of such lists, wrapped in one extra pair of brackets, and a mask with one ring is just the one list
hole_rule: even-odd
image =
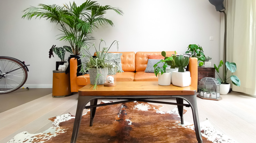
[(134, 75), (134, 81), (158, 81), (158, 77), (154, 73), (138, 71)]

